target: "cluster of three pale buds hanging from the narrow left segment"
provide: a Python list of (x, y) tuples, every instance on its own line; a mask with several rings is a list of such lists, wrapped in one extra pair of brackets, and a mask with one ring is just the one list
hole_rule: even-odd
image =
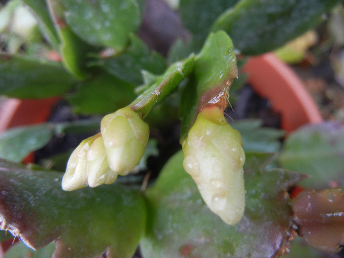
[(140, 162), (149, 138), (149, 126), (129, 106), (103, 117), (100, 133), (84, 141), (71, 154), (62, 189), (115, 182)]

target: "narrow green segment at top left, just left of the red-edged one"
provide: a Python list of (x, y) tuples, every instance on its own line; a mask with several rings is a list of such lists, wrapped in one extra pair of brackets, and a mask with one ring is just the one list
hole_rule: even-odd
[(59, 50), (59, 38), (55, 30), (54, 24), (49, 16), (49, 10), (46, 0), (23, 0), (23, 2), (31, 8), (36, 15), (39, 27), (44, 36), (51, 42), (53, 47)]

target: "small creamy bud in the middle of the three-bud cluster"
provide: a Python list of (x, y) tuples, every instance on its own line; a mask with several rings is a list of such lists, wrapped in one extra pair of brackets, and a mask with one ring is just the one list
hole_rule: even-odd
[(117, 173), (113, 172), (106, 158), (103, 137), (98, 137), (93, 141), (86, 153), (87, 178), (90, 187), (97, 187), (101, 184), (112, 184), (117, 178)]

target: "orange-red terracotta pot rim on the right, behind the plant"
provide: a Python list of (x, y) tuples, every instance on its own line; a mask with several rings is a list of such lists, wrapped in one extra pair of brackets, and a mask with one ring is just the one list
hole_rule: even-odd
[(322, 117), (313, 98), (292, 69), (268, 53), (251, 57), (242, 69), (248, 83), (281, 114), (281, 128), (293, 131), (306, 123), (320, 123)]

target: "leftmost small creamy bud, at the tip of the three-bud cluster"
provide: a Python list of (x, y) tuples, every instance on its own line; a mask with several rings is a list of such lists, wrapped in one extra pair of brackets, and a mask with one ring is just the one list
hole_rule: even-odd
[(72, 191), (87, 185), (87, 159), (86, 152), (98, 135), (93, 135), (84, 141), (70, 155), (66, 172), (62, 178), (62, 189)]

